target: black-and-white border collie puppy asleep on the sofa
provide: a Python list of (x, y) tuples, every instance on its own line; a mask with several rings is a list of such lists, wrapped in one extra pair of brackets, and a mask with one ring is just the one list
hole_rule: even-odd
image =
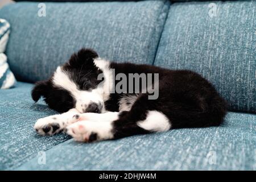
[[(139, 92), (110, 92), (120, 80), (115, 77), (119, 73), (127, 77), (131, 73), (158, 74), (157, 85), (156, 81), (151, 84), (158, 89), (158, 97), (150, 99), (152, 93), (143, 92), (142, 82)], [(127, 82), (123, 87), (130, 89), (135, 84)], [(224, 99), (195, 72), (113, 63), (84, 48), (57, 67), (49, 80), (36, 82), (32, 98), (38, 101), (41, 96), (50, 108), (63, 114), (38, 119), (35, 130), (42, 135), (64, 131), (80, 142), (219, 126), (226, 114)]]

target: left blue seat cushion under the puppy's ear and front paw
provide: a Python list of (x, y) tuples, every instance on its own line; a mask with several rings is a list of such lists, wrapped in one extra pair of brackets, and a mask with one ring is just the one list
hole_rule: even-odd
[(42, 102), (34, 104), (31, 84), (0, 90), (0, 170), (14, 169), (27, 160), (67, 140), (64, 134), (40, 137), (33, 129), (36, 119), (55, 114)]

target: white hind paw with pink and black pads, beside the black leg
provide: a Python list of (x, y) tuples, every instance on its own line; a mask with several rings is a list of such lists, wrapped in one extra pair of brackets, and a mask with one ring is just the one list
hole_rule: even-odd
[(80, 121), (67, 127), (67, 134), (78, 142), (94, 142), (113, 138), (112, 122)]

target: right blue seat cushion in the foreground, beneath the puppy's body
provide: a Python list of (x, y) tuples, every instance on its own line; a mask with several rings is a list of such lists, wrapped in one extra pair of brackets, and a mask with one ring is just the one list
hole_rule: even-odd
[(229, 113), (220, 127), (179, 129), (114, 141), (73, 139), (21, 170), (255, 170), (256, 115)]

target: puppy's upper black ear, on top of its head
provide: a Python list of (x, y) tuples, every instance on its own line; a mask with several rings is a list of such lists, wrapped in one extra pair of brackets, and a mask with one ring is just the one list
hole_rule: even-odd
[(98, 54), (93, 49), (82, 48), (79, 52), (74, 53), (69, 59), (69, 64), (73, 66), (93, 66), (93, 60), (98, 57)]

